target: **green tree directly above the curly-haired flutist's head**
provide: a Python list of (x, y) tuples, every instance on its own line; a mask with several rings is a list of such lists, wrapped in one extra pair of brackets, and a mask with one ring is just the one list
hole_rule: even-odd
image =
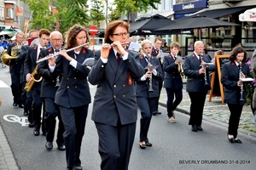
[(60, 22), (61, 32), (67, 31), (75, 24), (89, 26), (89, 16), (85, 12), (88, 8), (86, 0), (57, 0), (56, 8), (59, 13), (55, 16)]

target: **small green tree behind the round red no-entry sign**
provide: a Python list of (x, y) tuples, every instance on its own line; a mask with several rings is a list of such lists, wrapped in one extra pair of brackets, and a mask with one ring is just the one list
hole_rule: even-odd
[(101, 21), (105, 20), (105, 16), (103, 15), (103, 4), (102, 1), (92, 0), (92, 6), (90, 9), (90, 21), (92, 21), (93, 25), (100, 28)]

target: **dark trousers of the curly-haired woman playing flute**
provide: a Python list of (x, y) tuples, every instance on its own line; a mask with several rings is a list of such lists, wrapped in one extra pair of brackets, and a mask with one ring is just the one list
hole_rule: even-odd
[(64, 124), (65, 132), (63, 133), (66, 145), (67, 167), (80, 166), (80, 151), (84, 128), (88, 113), (88, 105), (75, 108), (67, 108), (59, 105), (61, 118)]

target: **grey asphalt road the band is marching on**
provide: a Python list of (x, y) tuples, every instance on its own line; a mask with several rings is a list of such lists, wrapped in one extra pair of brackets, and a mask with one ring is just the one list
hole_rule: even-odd
[[(1, 81), (10, 85), (9, 72), (6, 68), (0, 68)], [(53, 150), (45, 149), (45, 137), (33, 135), (33, 128), (25, 125), (24, 121), (27, 123), (27, 120), (26, 116), (23, 116), (23, 110), (12, 106), (10, 88), (1, 87), (0, 97), (3, 99), (3, 105), (0, 107), (0, 122), (20, 169), (66, 169), (65, 152), (57, 150), (55, 143)], [(93, 100), (96, 87), (90, 86), (90, 90)], [(81, 161), (84, 169), (98, 170), (101, 160), (97, 152), (96, 127), (90, 120), (91, 106), (85, 127)], [(166, 120), (166, 108), (160, 106), (159, 110), (162, 114), (152, 117), (148, 132), (148, 139), (153, 147), (146, 150), (141, 150), (138, 144), (138, 111), (137, 134), (131, 154), (130, 170), (255, 169), (256, 138), (253, 136), (239, 133), (243, 143), (231, 144), (227, 139), (227, 127), (224, 123), (204, 119), (204, 130), (194, 133), (188, 125), (188, 115), (177, 112), (177, 122), (169, 123)], [(9, 122), (7, 119), (13, 121)]]

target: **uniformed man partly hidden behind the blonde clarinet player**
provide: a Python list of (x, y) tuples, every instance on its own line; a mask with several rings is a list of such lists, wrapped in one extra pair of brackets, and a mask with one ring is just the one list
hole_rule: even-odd
[[(163, 44), (163, 39), (161, 37), (155, 37), (154, 38), (154, 47), (152, 48), (152, 55), (154, 57), (156, 57), (157, 59), (159, 59), (160, 61), (160, 68), (163, 71), (163, 63), (162, 63), (162, 57), (160, 54), (161, 53), (166, 53), (166, 49), (165, 48), (161, 48)], [(159, 96), (154, 104), (154, 111), (153, 111), (153, 115), (155, 116), (156, 114), (161, 114), (160, 111), (158, 111), (158, 105), (159, 105), (159, 99), (160, 99), (160, 93), (161, 93), (161, 89), (163, 88), (163, 81), (164, 79), (160, 79), (159, 80)]]

